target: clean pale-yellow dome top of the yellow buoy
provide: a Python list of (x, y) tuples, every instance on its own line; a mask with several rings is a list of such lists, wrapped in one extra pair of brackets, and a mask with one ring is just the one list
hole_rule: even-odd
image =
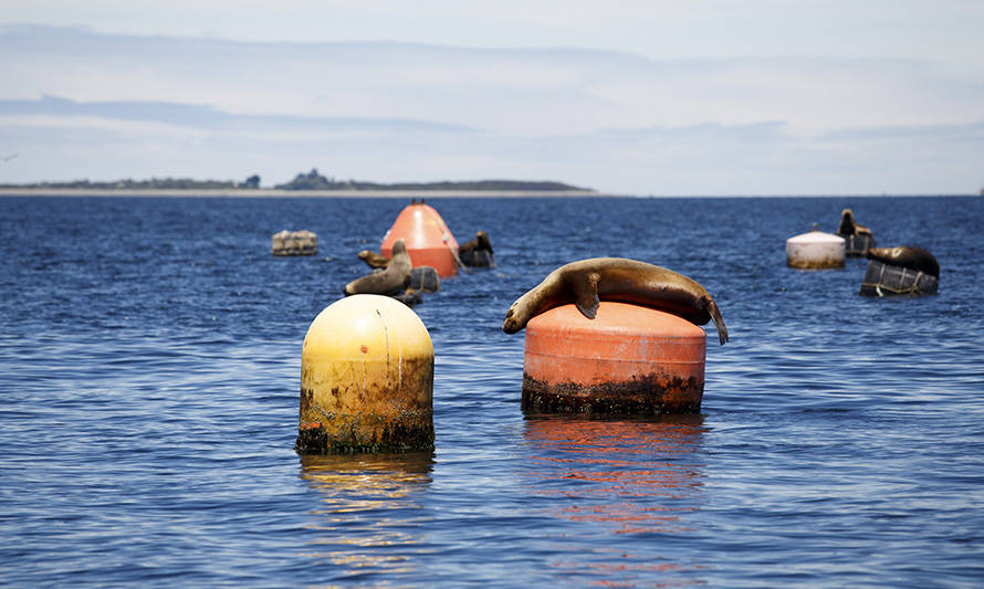
[(433, 356), (423, 322), (389, 296), (358, 294), (325, 307), (304, 336), (305, 357), (379, 360)]

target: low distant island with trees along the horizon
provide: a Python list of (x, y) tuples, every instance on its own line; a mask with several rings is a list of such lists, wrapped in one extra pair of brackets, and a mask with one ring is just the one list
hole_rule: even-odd
[[(195, 180), (191, 178), (151, 178), (149, 180), (116, 180), (93, 182), (73, 180), (67, 182), (34, 182), (23, 185), (0, 185), (0, 188), (18, 189), (84, 189), (84, 190), (259, 190), (260, 177), (250, 176), (243, 181), (234, 180)], [(578, 188), (563, 182), (526, 181), (526, 180), (467, 180), (440, 182), (397, 182), (379, 183), (362, 180), (335, 180), (312, 169), (307, 173), (299, 173), (290, 182), (276, 185), (275, 190), (337, 190), (337, 191), (527, 191), (527, 192), (594, 192), (589, 188)]]

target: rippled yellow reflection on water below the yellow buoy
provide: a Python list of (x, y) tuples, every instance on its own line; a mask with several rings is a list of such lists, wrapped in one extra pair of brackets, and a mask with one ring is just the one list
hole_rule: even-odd
[(415, 547), (430, 517), (416, 499), (431, 482), (433, 452), (312, 455), (301, 466), (324, 502), (313, 512), (322, 534), (310, 556), (341, 567), (338, 579), (417, 569)]

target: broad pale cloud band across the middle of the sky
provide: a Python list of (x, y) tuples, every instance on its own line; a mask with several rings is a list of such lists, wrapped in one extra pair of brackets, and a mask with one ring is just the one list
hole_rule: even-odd
[(238, 43), (10, 28), (4, 98), (169, 102), (235, 114), (435, 120), (510, 134), (607, 126), (796, 128), (984, 118), (984, 84), (886, 59), (652, 60), (596, 50)]

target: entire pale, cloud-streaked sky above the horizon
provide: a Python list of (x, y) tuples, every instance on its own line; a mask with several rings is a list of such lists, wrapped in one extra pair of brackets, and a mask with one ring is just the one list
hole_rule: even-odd
[(978, 0), (0, 2), (0, 183), (984, 187)]

